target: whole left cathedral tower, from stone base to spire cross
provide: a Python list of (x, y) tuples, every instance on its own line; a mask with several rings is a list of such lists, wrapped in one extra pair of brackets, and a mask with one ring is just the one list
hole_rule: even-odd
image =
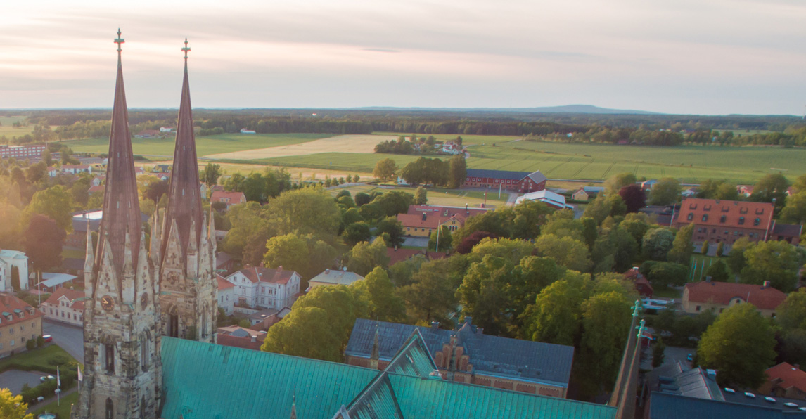
[(118, 30), (109, 163), (98, 249), (87, 231), (84, 385), (75, 419), (156, 419), (160, 407), (159, 284), (148, 263), (131, 152)]

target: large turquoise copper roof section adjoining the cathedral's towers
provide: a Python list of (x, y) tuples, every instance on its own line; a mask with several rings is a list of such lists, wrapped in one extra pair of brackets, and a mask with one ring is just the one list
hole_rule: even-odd
[(162, 338), (162, 417), (330, 419), (378, 371), (315, 359)]

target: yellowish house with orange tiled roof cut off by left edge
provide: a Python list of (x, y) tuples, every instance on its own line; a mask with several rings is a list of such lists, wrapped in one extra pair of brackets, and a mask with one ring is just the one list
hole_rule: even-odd
[(0, 292), (0, 357), (25, 351), (25, 342), (42, 336), (42, 316), (25, 301)]

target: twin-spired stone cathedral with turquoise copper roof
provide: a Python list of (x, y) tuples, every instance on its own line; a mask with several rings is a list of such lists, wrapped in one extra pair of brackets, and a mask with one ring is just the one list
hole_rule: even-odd
[[(389, 356), (380, 351), (388, 336), (381, 339), (376, 326), (370, 364), (385, 365), (381, 371), (215, 344), (214, 225), (202, 210), (187, 40), (168, 208), (161, 217), (153, 214), (148, 234), (135, 182), (119, 30), (114, 42), (109, 163), (98, 244), (87, 238), (84, 384), (73, 419), (625, 417), (613, 406), (443, 380), (416, 328)], [(628, 364), (620, 377), (637, 375), (636, 363)], [(623, 381), (622, 388), (634, 388)], [(622, 393), (629, 400), (630, 392)]]

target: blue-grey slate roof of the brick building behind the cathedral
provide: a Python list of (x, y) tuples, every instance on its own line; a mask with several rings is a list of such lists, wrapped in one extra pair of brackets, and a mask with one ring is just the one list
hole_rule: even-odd
[[(369, 358), (375, 338), (375, 321), (356, 319), (347, 342), (345, 355)], [(442, 351), (452, 330), (435, 327), (378, 322), (380, 359), (392, 359), (416, 328), (425, 339), (431, 356)], [(473, 371), (479, 375), (517, 378), (567, 387), (574, 356), (572, 346), (530, 342), (476, 333), (476, 326), (465, 323), (457, 332), (459, 345), (470, 357)]]

